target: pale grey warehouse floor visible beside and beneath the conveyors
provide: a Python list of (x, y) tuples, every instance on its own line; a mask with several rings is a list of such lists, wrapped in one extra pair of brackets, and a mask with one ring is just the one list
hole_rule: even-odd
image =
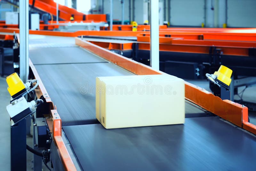
[[(208, 82), (203, 81), (195, 81), (195, 80), (187, 80), (193, 84), (198, 85), (199, 87), (205, 88), (209, 91)], [(238, 92), (243, 90), (240, 88)], [(255, 101), (256, 96), (256, 86), (247, 88), (244, 91), (243, 99), (247, 101)], [(237, 97), (236, 97), (237, 98)], [(9, 104), (10, 95), (7, 91), (7, 84), (5, 78), (0, 77), (0, 168), (1, 170), (10, 170), (10, 118), (8, 113), (6, 112), (6, 106)], [(249, 112), (249, 117), (251, 119), (251, 123), (256, 124), (256, 113)], [(33, 138), (27, 137), (27, 144), (29, 146), (33, 146)], [(33, 155), (30, 152), (27, 152), (27, 170), (32, 170)], [(47, 168), (43, 164), (43, 170), (47, 170)]]

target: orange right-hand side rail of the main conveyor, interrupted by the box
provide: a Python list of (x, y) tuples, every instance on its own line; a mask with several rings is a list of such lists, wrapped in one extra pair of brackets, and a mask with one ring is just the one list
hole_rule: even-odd
[[(128, 71), (131, 71), (134, 74), (165, 74), (161, 71), (155, 70), (131, 59), (125, 58), (119, 54), (108, 51), (105, 48), (99, 47), (80, 38), (75, 38), (75, 41), (76, 45), (81, 46), (91, 51), (92, 53), (95, 53), (100, 57), (111, 61), (112, 63)], [(221, 100), (220, 97), (214, 96), (211, 92), (208, 92), (205, 89), (202, 89), (188, 82), (185, 82), (185, 98), (188, 101), (202, 107), (203, 109), (206, 109), (214, 113), (215, 115), (218, 115), (221, 118), (224, 118), (229, 122), (241, 128), (244, 128), (247, 131), (250, 131), (250, 129), (254, 130), (254, 127), (252, 127), (252, 125), (249, 126), (250, 129), (246, 126), (243, 127), (242, 120), (244, 120), (244, 118), (248, 119), (248, 108), (241, 104), (234, 103), (230, 100)], [(252, 130), (250, 132), (253, 133)]]

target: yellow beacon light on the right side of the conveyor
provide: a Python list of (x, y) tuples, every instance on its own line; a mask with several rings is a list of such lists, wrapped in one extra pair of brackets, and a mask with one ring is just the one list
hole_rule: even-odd
[(226, 85), (230, 85), (232, 70), (223, 65), (220, 66), (218, 71), (215, 71), (213, 75), (217, 75), (217, 80), (223, 82)]

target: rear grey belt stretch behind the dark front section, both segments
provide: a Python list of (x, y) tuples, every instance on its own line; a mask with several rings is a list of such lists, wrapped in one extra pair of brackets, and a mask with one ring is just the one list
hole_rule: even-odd
[[(95, 118), (97, 76), (133, 75), (80, 47), (34, 48), (30, 49), (29, 56), (57, 106), (62, 125), (98, 123)], [(204, 112), (186, 104), (188, 113)]]

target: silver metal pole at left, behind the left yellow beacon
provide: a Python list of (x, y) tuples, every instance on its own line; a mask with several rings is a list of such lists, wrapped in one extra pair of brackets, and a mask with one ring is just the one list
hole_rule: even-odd
[(20, 78), (28, 79), (28, 0), (20, 1)]

